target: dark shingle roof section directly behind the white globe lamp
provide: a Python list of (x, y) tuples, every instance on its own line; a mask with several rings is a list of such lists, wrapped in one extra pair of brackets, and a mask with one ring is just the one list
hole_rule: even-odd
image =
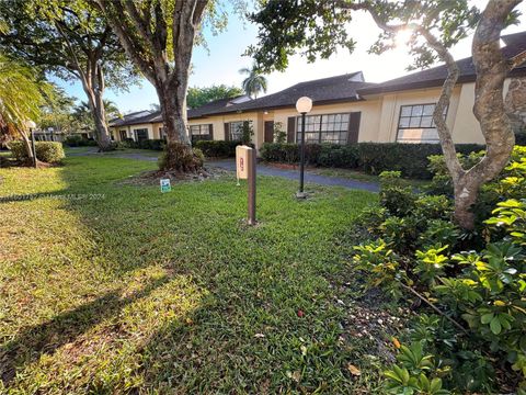
[[(201, 116), (294, 106), (296, 101), (304, 95), (311, 98), (316, 104), (357, 101), (361, 100), (356, 94), (357, 90), (369, 86), (374, 86), (374, 83), (364, 82), (362, 71), (356, 71), (342, 76), (300, 82), (261, 99), (231, 106), (218, 106), (215, 110), (203, 112)], [(191, 117), (190, 114), (188, 117)]]

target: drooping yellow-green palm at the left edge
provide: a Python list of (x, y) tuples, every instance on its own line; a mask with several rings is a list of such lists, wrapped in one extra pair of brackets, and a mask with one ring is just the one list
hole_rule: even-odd
[(20, 135), (31, 161), (27, 122), (38, 120), (41, 105), (50, 89), (47, 82), (38, 81), (28, 67), (0, 54), (0, 137), (9, 139)]

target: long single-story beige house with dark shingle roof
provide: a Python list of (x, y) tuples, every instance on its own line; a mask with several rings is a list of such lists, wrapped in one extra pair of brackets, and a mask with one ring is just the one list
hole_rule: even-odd
[[(511, 58), (526, 50), (526, 32), (502, 37), (503, 54)], [(484, 143), (472, 113), (474, 67), (471, 58), (457, 61), (460, 77), (444, 116), (455, 143)], [(347, 144), (356, 142), (438, 143), (433, 111), (447, 76), (445, 66), (409, 74), (382, 83), (364, 81), (362, 71), (297, 83), (277, 93), (249, 100), (245, 97), (218, 100), (188, 110), (192, 140), (233, 140), (240, 137), (243, 122), (252, 123), (258, 148), (274, 139), (282, 125), (289, 143), (300, 138), (296, 101), (310, 97), (312, 111), (306, 120), (306, 142)], [(526, 64), (514, 69), (507, 87), (526, 87)], [(524, 94), (514, 97), (523, 100)], [(526, 114), (526, 103), (515, 103), (515, 113)], [(518, 110), (517, 110), (518, 109)], [(147, 113), (147, 114), (146, 114)], [(278, 124), (279, 123), (279, 124)], [(159, 112), (128, 114), (111, 123), (115, 139), (163, 138)]]

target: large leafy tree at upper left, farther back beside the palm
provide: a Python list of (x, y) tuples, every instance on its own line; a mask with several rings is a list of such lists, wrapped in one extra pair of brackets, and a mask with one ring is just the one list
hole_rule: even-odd
[(84, 0), (3, 0), (0, 15), (7, 25), (0, 47), (43, 71), (80, 81), (99, 147), (111, 149), (104, 90), (125, 89), (135, 72), (101, 12)]

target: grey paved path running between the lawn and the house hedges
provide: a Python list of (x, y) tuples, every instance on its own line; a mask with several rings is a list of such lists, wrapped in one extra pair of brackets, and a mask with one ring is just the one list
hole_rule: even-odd
[[(75, 153), (72, 149), (68, 153), (68, 156), (107, 156), (114, 158), (124, 158), (124, 159), (136, 159), (136, 160), (148, 160), (148, 161), (157, 161), (156, 157), (141, 155), (139, 153), (122, 153), (113, 151), (107, 154), (99, 154), (96, 148), (93, 148), (89, 151), (79, 151)], [(211, 160), (205, 163), (206, 166), (217, 167), (230, 171), (236, 171), (236, 161), (233, 159), (225, 159), (225, 160)], [(281, 177), (288, 180), (299, 180), (299, 171), (298, 170), (286, 170), (286, 169), (278, 169), (272, 166), (266, 166), (262, 163), (258, 163), (258, 174), (262, 176), (273, 176), (273, 177)], [(341, 178), (341, 177), (328, 177), (328, 176), (319, 176), (315, 174), (310, 171), (305, 172), (305, 182), (306, 183), (317, 183), (321, 185), (330, 185), (330, 187), (344, 187), (348, 189), (356, 189), (369, 192), (378, 192), (379, 188), (378, 184), (374, 182), (362, 182), (352, 179)]]

